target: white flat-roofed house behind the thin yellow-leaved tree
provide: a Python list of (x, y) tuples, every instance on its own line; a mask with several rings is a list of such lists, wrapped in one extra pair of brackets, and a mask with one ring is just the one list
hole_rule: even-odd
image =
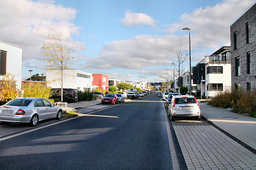
[[(81, 91), (92, 90), (92, 73), (68, 69), (63, 72), (63, 88), (74, 88)], [(61, 88), (60, 70), (46, 70), (47, 86)]]

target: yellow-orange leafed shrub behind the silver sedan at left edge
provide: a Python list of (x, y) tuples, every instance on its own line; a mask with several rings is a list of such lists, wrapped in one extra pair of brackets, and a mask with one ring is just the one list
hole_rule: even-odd
[(16, 98), (19, 95), (19, 90), (16, 88), (16, 80), (14, 80), (14, 75), (7, 72), (0, 82), (0, 96), (8, 102)]

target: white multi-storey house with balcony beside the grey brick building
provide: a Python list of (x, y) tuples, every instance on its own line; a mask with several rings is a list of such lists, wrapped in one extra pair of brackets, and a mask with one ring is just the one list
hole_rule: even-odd
[(213, 97), (220, 91), (231, 90), (230, 46), (205, 56), (194, 66), (193, 75), (193, 83), (201, 90), (202, 96)]

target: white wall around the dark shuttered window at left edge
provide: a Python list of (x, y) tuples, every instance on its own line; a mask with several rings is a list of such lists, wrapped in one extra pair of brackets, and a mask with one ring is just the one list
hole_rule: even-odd
[[(6, 51), (6, 73), (14, 75), (17, 88), (21, 89), (22, 48), (0, 41), (0, 50)], [(0, 80), (4, 75), (0, 75)]]

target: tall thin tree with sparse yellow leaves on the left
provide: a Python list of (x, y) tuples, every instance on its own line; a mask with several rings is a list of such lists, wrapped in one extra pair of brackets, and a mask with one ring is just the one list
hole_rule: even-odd
[(60, 33), (54, 29), (50, 29), (48, 42), (43, 43), (43, 53), (47, 57), (44, 61), (48, 63), (48, 69), (59, 70), (58, 74), (60, 75), (60, 78), (58, 81), (61, 86), (61, 102), (63, 98), (63, 80), (65, 76), (63, 71), (69, 69), (70, 66), (75, 65), (72, 60), (74, 59), (74, 54), (79, 54), (79, 50), (84, 50), (84, 47), (75, 46), (74, 43), (70, 42), (68, 39), (69, 38), (63, 40)]

